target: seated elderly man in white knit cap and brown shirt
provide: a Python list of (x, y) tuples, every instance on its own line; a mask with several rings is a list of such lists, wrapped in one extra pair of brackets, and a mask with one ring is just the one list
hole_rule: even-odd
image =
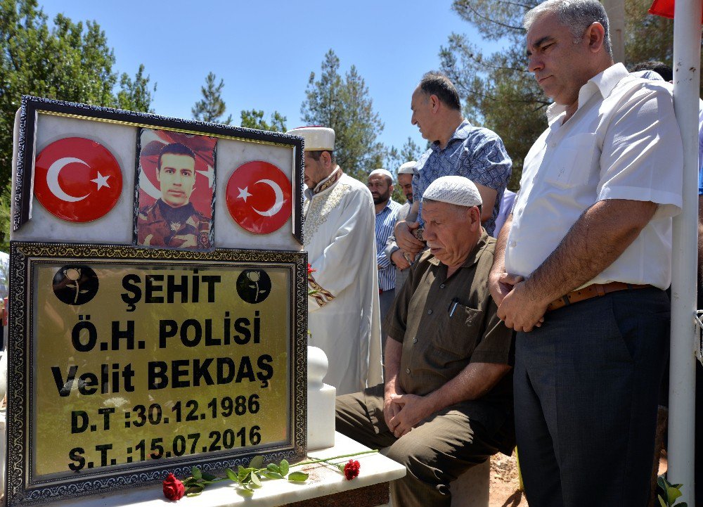
[(337, 397), (337, 431), (408, 468), (396, 506), (449, 506), (449, 482), (513, 447), (512, 330), (488, 290), (496, 240), (467, 178), (423, 196), (430, 248), (413, 265), (386, 323), (386, 383)]

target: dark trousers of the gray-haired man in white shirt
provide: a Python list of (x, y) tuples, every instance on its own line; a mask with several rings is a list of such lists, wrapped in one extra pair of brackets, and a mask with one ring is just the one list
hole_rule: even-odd
[(669, 308), (662, 290), (623, 290), (517, 334), (515, 425), (530, 505), (647, 504)]

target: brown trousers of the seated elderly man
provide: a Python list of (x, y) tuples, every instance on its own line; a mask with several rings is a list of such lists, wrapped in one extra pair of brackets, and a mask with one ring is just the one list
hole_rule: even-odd
[(390, 447), (387, 456), (408, 468), (405, 477), (391, 482), (395, 507), (449, 507), (449, 482), (500, 445), (497, 435), (452, 407), (394, 437), (383, 418), (383, 385), (338, 396), (336, 410), (338, 432), (372, 449)]

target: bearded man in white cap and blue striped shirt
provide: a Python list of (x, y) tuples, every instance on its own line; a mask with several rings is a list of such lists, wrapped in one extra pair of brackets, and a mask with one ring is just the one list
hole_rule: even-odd
[(386, 242), (393, 233), (396, 215), (401, 208), (391, 198), (393, 175), (386, 169), (375, 169), (368, 175), (368, 189), (376, 212), (376, 264), (378, 264), (378, 302), (381, 314), (381, 350), (386, 344), (383, 322), (395, 299), (395, 268), (386, 255)]

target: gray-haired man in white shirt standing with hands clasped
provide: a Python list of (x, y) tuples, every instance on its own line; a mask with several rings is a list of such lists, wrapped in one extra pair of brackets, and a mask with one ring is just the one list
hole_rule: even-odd
[(524, 26), (528, 68), (554, 103), (524, 159), (490, 288), (518, 331), (527, 501), (642, 507), (669, 345), (671, 219), (682, 205), (671, 92), (614, 64), (597, 0), (547, 0)]

